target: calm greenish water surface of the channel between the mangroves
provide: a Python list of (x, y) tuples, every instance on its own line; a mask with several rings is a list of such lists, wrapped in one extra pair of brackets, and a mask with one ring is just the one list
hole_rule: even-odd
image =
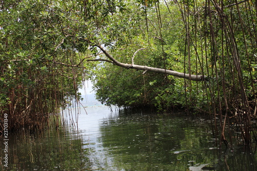
[(86, 112), (64, 112), (66, 124), (57, 130), (9, 136), (9, 167), (2, 164), (0, 169), (196, 171), (257, 166), (255, 155), (243, 147), (217, 148), (206, 117), (111, 111), (103, 105), (86, 107)]

